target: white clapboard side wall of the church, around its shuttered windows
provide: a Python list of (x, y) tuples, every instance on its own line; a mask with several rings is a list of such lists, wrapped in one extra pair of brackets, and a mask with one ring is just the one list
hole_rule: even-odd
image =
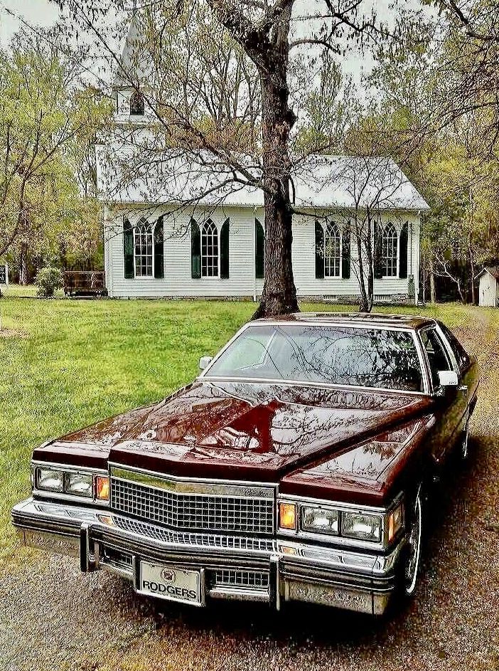
[[(164, 215), (164, 278), (124, 278), (122, 226), (124, 216), (135, 223), (144, 215), (156, 221)], [(106, 282), (111, 297), (253, 297), (262, 292), (263, 280), (254, 278), (254, 217), (264, 223), (264, 212), (250, 207), (217, 208), (215, 212), (198, 208), (195, 218), (203, 222), (212, 218), (220, 231), (225, 219), (230, 218), (230, 279), (191, 278), (190, 215), (171, 213), (167, 208), (128, 209), (115, 208), (104, 214), (104, 265)], [(412, 222), (409, 233), (409, 260), (407, 272), (414, 275), (417, 295), (417, 268), (419, 267), (419, 216), (412, 213), (393, 221), (399, 231), (403, 221)], [(296, 216), (293, 224), (293, 267), (296, 290), (299, 296), (357, 295), (358, 280), (355, 262), (349, 280), (341, 278), (315, 278), (315, 234), (313, 217)], [(352, 238), (352, 255), (355, 256), (355, 239)], [(375, 295), (407, 294), (407, 280), (386, 278), (375, 280)]]

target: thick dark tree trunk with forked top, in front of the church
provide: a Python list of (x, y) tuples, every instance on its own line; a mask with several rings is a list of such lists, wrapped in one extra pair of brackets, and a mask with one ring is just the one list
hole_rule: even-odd
[(299, 310), (291, 263), (293, 207), (289, 197), (289, 134), (296, 122), (289, 107), (288, 86), (289, 26), (294, 1), (279, 0), (274, 6), (264, 3), (264, 18), (255, 24), (237, 3), (208, 0), (218, 19), (257, 67), (262, 93), (265, 280), (253, 319)]

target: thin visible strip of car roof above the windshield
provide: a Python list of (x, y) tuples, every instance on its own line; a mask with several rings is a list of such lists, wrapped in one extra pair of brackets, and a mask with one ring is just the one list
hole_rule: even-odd
[[(398, 327), (406, 329), (420, 329), (435, 324), (435, 319), (420, 317), (419, 315), (390, 315), (375, 312), (294, 312), (291, 315), (279, 315), (278, 317), (262, 317), (257, 319), (259, 323), (284, 322), (296, 324), (296, 322), (314, 324), (355, 324), (369, 325), (372, 327)], [(253, 322), (255, 323), (255, 322)]]

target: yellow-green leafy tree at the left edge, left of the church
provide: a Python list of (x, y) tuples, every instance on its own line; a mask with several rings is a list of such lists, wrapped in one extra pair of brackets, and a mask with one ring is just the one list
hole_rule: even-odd
[(75, 225), (89, 231), (94, 252), (100, 238), (95, 189), (90, 203), (89, 176), (77, 176), (88, 172), (87, 149), (109, 104), (82, 90), (75, 55), (61, 58), (54, 39), (21, 31), (0, 52), (0, 256), (17, 257), (21, 283), (28, 251), (57, 257)]

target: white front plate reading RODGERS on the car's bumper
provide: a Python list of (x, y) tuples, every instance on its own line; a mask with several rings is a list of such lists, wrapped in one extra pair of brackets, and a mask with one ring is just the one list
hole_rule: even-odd
[(138, 592), (169, 601), (201, 605), (200, 572), (141, 561)]

